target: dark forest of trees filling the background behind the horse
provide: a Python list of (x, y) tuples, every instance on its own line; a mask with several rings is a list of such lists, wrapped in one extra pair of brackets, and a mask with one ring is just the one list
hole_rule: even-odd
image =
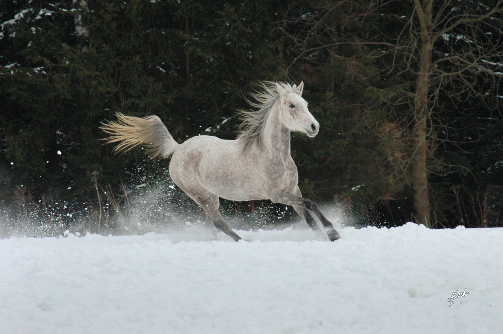
[(115, 154), (103, 122), (234, 139), (269, 80), (303, 81), (320, 123), (292, 133), (304, 197), (365, 225), (503, 226), (501, 0), (2, 0), (0, 23), (0, 218), (123, 216), (170, 161)]

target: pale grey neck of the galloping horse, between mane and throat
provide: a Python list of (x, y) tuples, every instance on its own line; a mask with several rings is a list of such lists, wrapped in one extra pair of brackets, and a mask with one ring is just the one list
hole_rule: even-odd
[(267, 117), (263, 144), (269, 154), (284, 158), (290, 156), (290, 130), (280, 120), (278, 105), (274, 104)]

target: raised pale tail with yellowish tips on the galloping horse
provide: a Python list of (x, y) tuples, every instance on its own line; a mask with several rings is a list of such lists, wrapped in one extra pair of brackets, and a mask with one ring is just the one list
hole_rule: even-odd
[(135, 146), (145, 145), (147, 153), (152, 157), (165, 158), (177, 148), (178, 143), (157, 116), (139, 118), (121, 113), (116, 115), (117, 121), (101, 123), (100, 127), (110, 135), (103, 140), (107, 143), (119, 143), (114, 149), (116, 152), (126, 152)]

